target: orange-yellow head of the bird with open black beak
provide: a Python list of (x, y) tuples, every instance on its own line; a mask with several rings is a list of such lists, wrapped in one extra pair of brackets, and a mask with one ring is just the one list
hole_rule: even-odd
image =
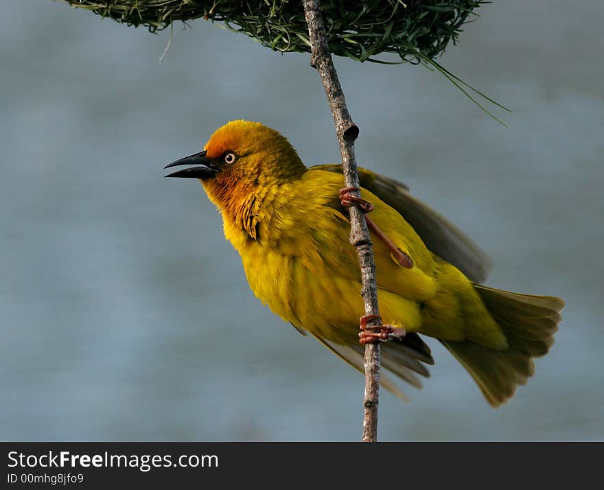
[(258, 189), (290, 182), (306, 170), (279, 132), (251, 121), (231, 121), (210, 137), (203, 151), (168, 167), (188, 165), (166, 177), (198, 178), (209, 198), (224, 208)]

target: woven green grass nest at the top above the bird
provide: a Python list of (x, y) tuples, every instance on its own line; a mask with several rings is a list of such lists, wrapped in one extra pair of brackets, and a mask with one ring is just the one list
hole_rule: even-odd
[[(301, 0), (64, 0), (120, 23), (156, 32), (174, 21), (224, 23), (276, 51), (310, 51)], [(456, 43), (461, 27), (485, 0), (323, 0), (329, 48), (338, 56), (428, 62)]]

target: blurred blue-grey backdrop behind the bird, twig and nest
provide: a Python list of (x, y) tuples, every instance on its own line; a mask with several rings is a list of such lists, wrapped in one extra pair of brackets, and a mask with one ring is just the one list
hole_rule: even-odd
[[(430, 342), (382, 440), (604, 439), (604, 9), (497, 1), (441, 62), (336, 60), (362, 165), (404, 180), (493, 257), (488, 283), (566, 299), (556, 344), (499, 410)], [(305, 54), (204, 21), (158, 36), (67, 4), (0, 17), (0, 439), (351, 440), (362, 376), (248, 290), (218, 213), (162, 167), (229, 119), (338, 160)]]

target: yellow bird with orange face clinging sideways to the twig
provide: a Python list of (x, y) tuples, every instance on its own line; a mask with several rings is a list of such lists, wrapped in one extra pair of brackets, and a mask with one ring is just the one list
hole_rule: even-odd
[[(279, 132), (242, 120), (166, 168), (176, 165), (192, 166), (168, 177), (200, 179), (218, 207), (254, 294), (362, 370), (361, 279), (348, 241), (349, 214), (338, 196), (340, 165), (307, 168)], [(384, 342), (384, 368), (420, 388), (417, 374), (428, 376), (424, 364), (434, 361), (418, 334), (437, 338), (489, 404), (500, 406), (533, 375), (533, 358), (553, 344), (564, 301), (479, 285), (489, 261), (478, 247), (404, 185), (359, 172), (371, 220), (408, 259), (402, 263), (372, 231), (382, 318), (406, 331)], [(404, 398), (388, 377), (381, 383)]]

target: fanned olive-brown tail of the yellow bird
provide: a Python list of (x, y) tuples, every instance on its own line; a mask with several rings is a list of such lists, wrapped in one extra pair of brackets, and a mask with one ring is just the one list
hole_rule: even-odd
[(441, 342), (472, 375), (489, 404), (497, 407), (535, 373), (533, 358), (548, 353), (564, 301), (477, 284), (474, 289), (501, 327), (509, 349), (496, 351), (470, 341)]

